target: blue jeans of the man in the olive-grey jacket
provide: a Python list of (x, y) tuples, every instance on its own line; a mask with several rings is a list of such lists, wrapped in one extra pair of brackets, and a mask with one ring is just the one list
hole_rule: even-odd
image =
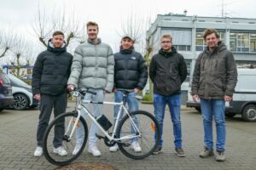
[(225, 102), (220, 99), (201, 99), (201, 115), (204, 124), (205, 146), (213, 148), (212, 142), (212, 116), (216, 123), (216, 150), (224, 150), (226, 125), (225, 125)]

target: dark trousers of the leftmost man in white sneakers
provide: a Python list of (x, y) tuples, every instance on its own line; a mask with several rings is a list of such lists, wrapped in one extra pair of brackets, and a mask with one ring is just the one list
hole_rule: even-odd
[[(59, 116), (61, 113), (66, 112), (67, 108), (67, 93), (59, 95), (41, 94), (40, 100), (40, 115), (38, 122), (37, 140), (38, 146), (43, 146), (44, 132), (49, 124), (49, 118), (52, 110), (54, 115)], [(64, 119), (55, 124), (55, 137), (53, 139), (54, 147), (57, 148), (62, 145), (62, 138), (65, 133)]]

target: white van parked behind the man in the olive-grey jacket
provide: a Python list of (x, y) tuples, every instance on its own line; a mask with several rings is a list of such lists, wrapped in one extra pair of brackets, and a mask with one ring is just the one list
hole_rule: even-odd
[[(226, 116), (241, 114), (243, 120), (256, 122), (256, 69), (238, 68), (238, 82), (233, 100), (226, 102)], [(189, 83), (187, 107), (201, 111), (200, 103), (195, 103), (191, 96)]]

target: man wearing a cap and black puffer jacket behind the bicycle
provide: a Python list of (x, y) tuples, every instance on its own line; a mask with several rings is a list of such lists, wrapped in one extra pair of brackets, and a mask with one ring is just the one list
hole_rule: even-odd
[[(123, 94), (127, 94), (127, 102), (129, 111), (137, 111), (138, 103), (136, 96), (143, 90), (148, 80), (148, 67), (142, 54), (134, 51), (133, 40), (129, 35), (122, 37), (119, 53), (113, 54), (114, 56), (114, 100), (115, 102), (121, 102), (123, 100)], [(117, 119), (119, 112), (119, 105), (114, 106), (114, 122), (119, 122), (123, 117), (123, 111), (120, 119)], [(133, 121), (139, 126), (139, 120), (134, 116)], [(135, 129), (131, 128), (131, 133), (135, 133)], [(136, 151), (142, 151), (137, 139), (131, 141), (131, 148)], [(115, 144), (110, 147), (110, 151), (117, 151), (118, 145)]]

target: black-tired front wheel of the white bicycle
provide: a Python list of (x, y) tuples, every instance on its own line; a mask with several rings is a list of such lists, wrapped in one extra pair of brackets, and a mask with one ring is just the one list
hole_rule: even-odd
[[(84, 146), (85, 146), (85, 144), (87, 142), (87, 138), (88, 138), (88, 127), (87, 127), (87, 123), (85, 122), (85, 120), (82, 116), (79, 119), (79, 121), (80, 121), (79, 123), (82, 123), (84, 125), (84, 126), (82, 126), (84, 128), (81, 127), (81, 130), (84, 133), (84, 138), (83, 138), (84, 141), (83, 141), (83, 144), (81, 145), (79, 151), (75, 155), (73, 155), (73, 150), (76, 145), (76, 130), (78, 128), (76, 128), (76, 130), (73, 132), (73, 136), (70, 141), (68, 141), (68, 139), (67, 139), (67, 136), (69, 136), (69, 133), (67, 134), (67, 136), (64, 135), (64, 133), (67, 132), (68, 122), (73, 123), (75, 120), (74, 118), (77, 118), (77, 116), (78, 116), (77, 111), (67, 112), (67, 113), (61, 114), (60, 116), (56, 116), (55, 119), (49, 123), (49, 126), (47, 127), (47, 129), (44, 133), (44, 143), (43, 143), (44, 156), (50, 163), (52, 163), (56, 166), (64, 166), (64, 165), (71, 163), (76, 158), (78, 158), (84, 150)], [(57, 125), (58, 121), (60, 121), (63, 118), (65, 120), (65, 131), (64, 131), (62, 139), (61, 139), (61, 143), (62, 143), (61, 146), (65, 150), (67, 150), (67, 156), (59, 156), (58, 154), (54, 153), (54, 151), (53, 151), (54, 150), (53, 141), (55, 139), (55, 126)], [(79, 126), (81, 126), (81, 124), (79, 124)], [(72, 129), (72, 127), (70, 129)]]

